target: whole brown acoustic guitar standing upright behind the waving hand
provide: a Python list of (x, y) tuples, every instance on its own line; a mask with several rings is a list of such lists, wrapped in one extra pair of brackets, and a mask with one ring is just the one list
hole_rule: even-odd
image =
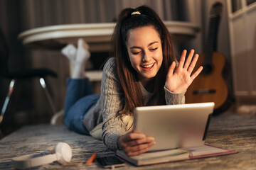
[(223, 79), (225, 57), (217, 51), (217, 35), (222, 4), (213, 4), (210, 10), (208, 45), (205, 55), (200, 55), (194, 70), (203, 65), (203, 71), (186, 91), (186, 103), (214, 102), (213, 114), (225, 111), (230, 106), (230, 93)]

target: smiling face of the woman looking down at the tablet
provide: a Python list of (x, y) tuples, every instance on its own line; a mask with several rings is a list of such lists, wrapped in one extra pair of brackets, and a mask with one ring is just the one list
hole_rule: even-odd
[(163, 62), (161, 38), (153, 26), (129, 30), (127, 37), (129, 61), (145, 86), (156, 77)]

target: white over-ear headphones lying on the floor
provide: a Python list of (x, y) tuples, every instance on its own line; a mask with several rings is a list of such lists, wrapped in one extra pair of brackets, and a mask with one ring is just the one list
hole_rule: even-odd
[(72, 158), (71, 147), (64, 142), (59, 142), (54, 149), (47, 150), (40, 154), (27, 154), (21, 157), (11, 159), (13, 166), (16, 169), (26, 169), (33, 166), (41, 166), (57, 161), (59, 164), (66, 164)]

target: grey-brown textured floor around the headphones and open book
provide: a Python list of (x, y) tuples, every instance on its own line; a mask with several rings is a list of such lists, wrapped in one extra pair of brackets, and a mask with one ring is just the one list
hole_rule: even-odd
[[(85, 162), (95, 152), (114, 154), (106, 151), (102, 141), (70, 132), (63, 125), (32, 125), (0, 140), (0, 169), (13, 169), (12, 157), (42, 152), (58, 142), (67, 142), (73, 149), (71, 163), (46, 164), (34, 169), (100, 169), (95, 163), (87, 166)], [(239, 153), (142, 167), (127, 164), (119, 169), (256, 169), (256, 116), (228, 113), (213, 117), (206, 144)]]

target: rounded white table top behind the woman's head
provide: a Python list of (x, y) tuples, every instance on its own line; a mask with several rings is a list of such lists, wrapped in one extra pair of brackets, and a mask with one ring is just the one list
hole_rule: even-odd
[[(165, 21), (166, 27), (176, 37), (176, 42), (185, 42), (196, 36), (198, 26), (180, 21)], [(90, 51), (110, 50), (110, 40), (115, 23), (81, 23), (46, 26), (26, 30), (18, 35), (25, 47), (33, 49), (60, 50), (68, 43), (76, 44), (78, 38), (90, 45)]]

